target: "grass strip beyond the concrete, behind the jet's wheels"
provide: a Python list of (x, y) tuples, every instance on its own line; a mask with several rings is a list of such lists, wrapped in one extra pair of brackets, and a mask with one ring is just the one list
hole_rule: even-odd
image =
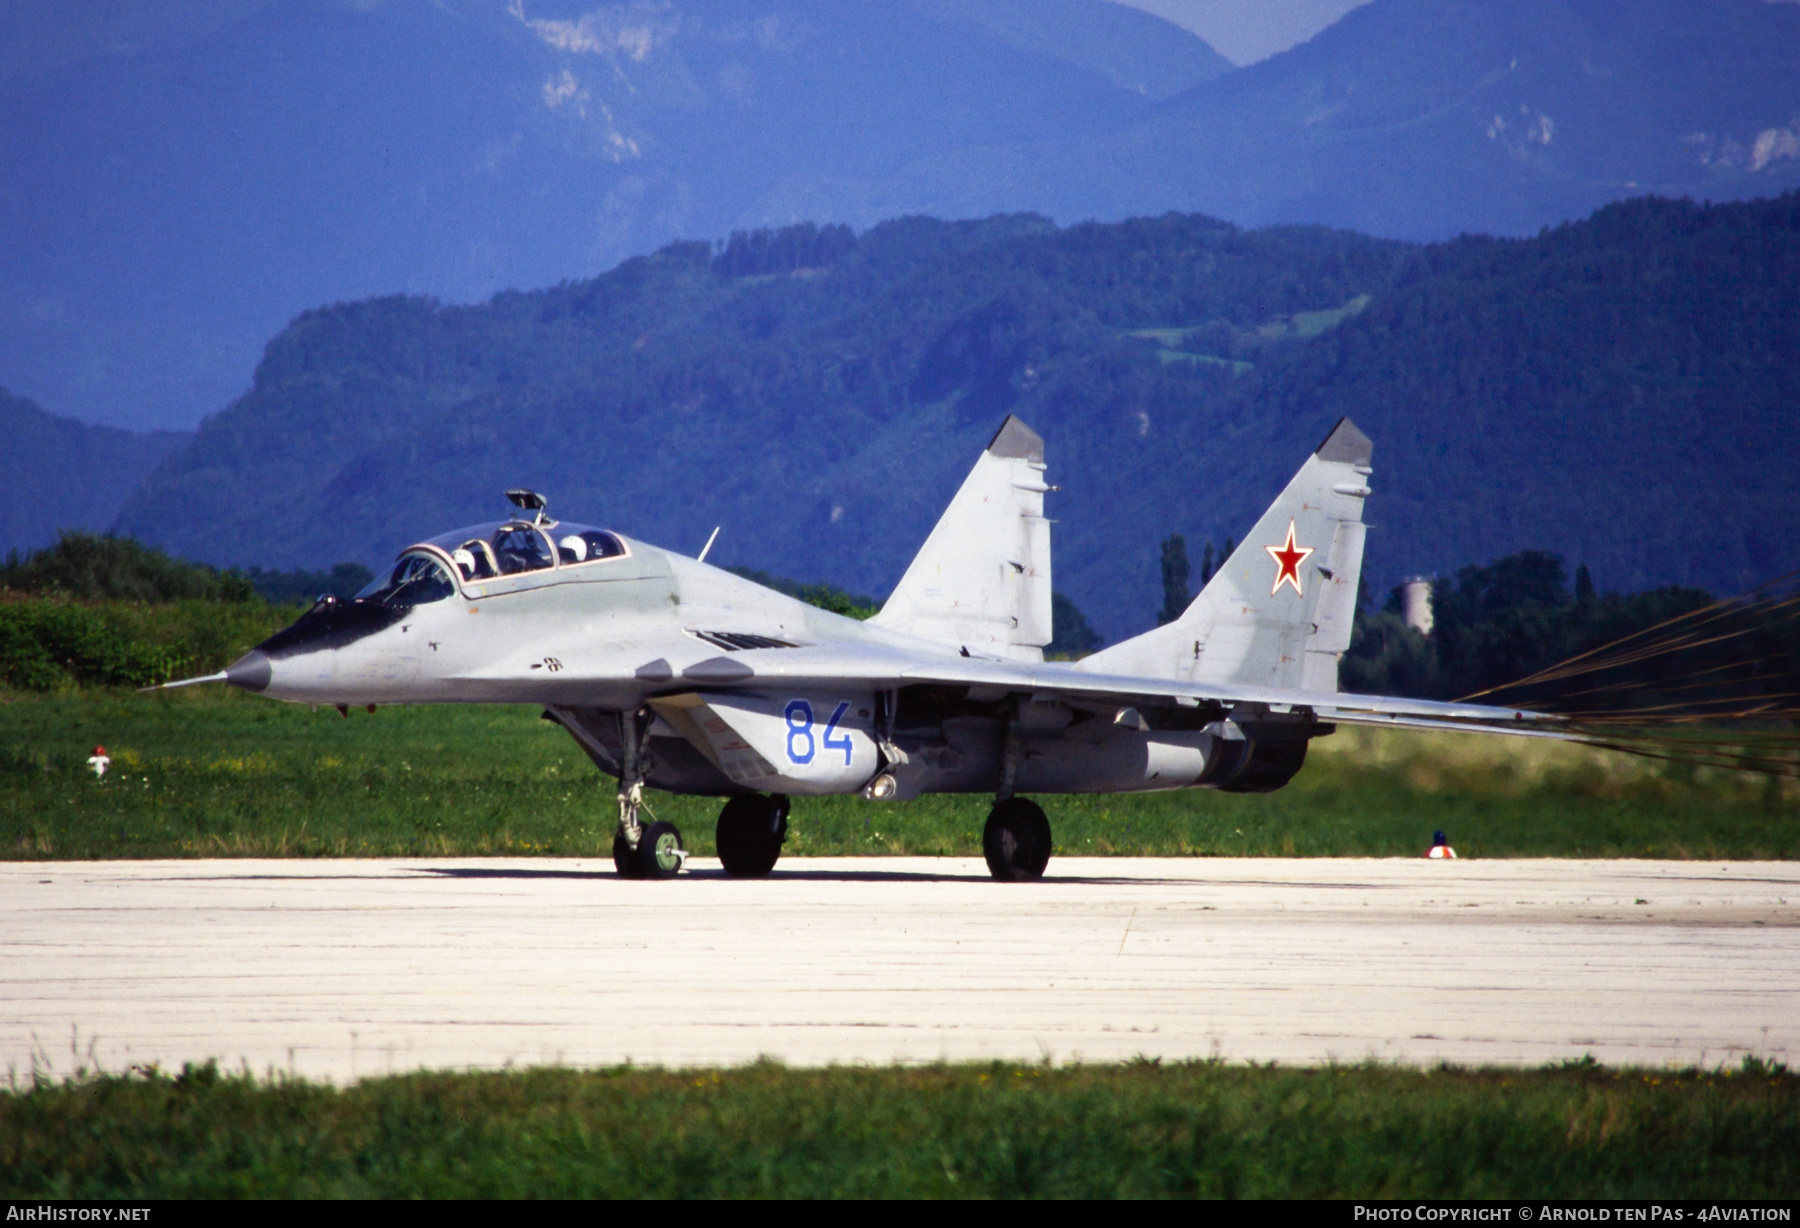
[[(94, 744), (113, 772), (85, 769)], [(223, 688), (11, 693), (0, 857), (605, 855), (614, 781), (535, 708), (310, 711)], [(1040, 798), (1118, 855), (1796, 857), (1795, 781), (1537, 740), (1343, 729), (1269, 796)], [(709, 853), (718, 801), (653, 794)], [(979, 855), (986, 799), (799, 799), (790, 855)]]

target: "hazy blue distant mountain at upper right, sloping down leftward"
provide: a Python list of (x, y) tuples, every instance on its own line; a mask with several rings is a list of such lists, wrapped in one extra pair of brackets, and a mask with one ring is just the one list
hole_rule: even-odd
[(1800, 185), (1800, 5), (1373, 0), (1125, 131), (945, 151), (884, 193), (947, 184), (1057, 218), (1413, 239), (1530, 234), (1643, 193), (1773, 196)]

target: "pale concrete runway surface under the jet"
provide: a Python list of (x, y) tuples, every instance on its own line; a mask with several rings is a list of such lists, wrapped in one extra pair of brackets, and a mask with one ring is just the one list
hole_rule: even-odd
[(1800, 1057), (1800, 864), (0, 866), (0, 1064)]

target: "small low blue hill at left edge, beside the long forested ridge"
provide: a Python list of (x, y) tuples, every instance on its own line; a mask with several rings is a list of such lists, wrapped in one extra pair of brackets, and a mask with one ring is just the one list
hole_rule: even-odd
[(126, 497), (193, 434), (119, 430), (47, 414), (0, 387), (0, 555), (104, 529)]

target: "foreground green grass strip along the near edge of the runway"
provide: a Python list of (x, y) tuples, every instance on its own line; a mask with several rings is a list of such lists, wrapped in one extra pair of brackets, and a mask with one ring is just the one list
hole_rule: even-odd
[(4, 1197), (1793, 1197), (1800, 1077), (1222, 1062), (0, 1093)]

